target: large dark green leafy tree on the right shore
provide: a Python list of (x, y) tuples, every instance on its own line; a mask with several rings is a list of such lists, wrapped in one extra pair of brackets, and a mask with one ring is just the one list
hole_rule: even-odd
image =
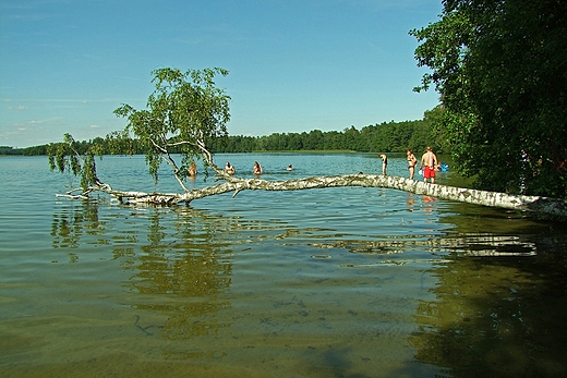
[(411, 35), (454, 167), (488, 191), (567, 197), (567, 2), (444, 0)]

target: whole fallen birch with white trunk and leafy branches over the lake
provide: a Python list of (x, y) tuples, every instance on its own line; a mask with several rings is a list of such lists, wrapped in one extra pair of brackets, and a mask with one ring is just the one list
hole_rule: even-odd
[[(230, 119), (229, 96), (215, 86), (214, 76), (226, 75), (222, 69), (188, 71), (176, 69), (155, 70), (153, 82), (155, 92), (148, 98), (147, 110), (135, 110), (122, 105), (114, 110), (118, 117), (128, 119), (122, 132), (107, 136), (112, 153), (123, 155), (131, 151), (133, 141), (145, 147), (146, 162), (154, 181), (158, 180), (158, 169), (166, 162), (180, 184), (183, 193), (144, 193), (113, 190), (102, 183), (96, 172), (95, 156), (101, 157), (101, 146), (94, 144), (85, 154), (79, 154), (76, 142), (70, 134), (63, 143), (49, 146), (48, 155), (51, 170), (71, 170), (81, 176), (81, 187), (69, 191), (63, 196), (88, 199), (94, 192), (109, 194), (123, 204), (167, 205), (190, 204), (192, 200), (212, 195), (232, 192), (234, 196), (242, 191), (298, 191), (338, 186), (366, 186), (400, 190), (427, 195), (439, 199), (468, 204), (500, 207), (567, 219), (567, 202), (564, 199), (539, 196), (511, 195), (471, 188), (426, 184), (399, 176), (376, 174), (345, 174), (313, 176), (289, 181), (267, 181), (261, 179), (240, 179), (219, 169), (213, 161), (207, 142), (228, 135), (226, 123)], [(177, 159), (181, 157), (181, 162)], [(200, 190), (188, 190), (184, 180), (189, 167), (202, 160), (205, 172), (212, 169), (222, 183)], [(79, 194), (75, 194), (77, 193)]]

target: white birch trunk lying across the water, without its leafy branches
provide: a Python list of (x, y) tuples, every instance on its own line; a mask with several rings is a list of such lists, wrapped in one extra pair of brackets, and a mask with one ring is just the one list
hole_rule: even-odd
[[(438, 199), (461, 202), (467, 204), (499, 207), (505, 209), (533, 211), (541, 215), (567, 219), (567, 200), (541, 196), (512, 195), (497, 192), (478, 191), (465, 187), (427, 184), (421, 181), (399, 176), (378, 174), (343, 174), (331, 176), (313, 176), (289, 181), (266, 181), (260, 179), (237, 179), (225, 176), (227, 182), (189, 191), (186, 193), (144, 193), (114, 191), (107, 184), (89, 187), (89, 192), (104, 192), (128, 204), (177, 205), (190, 204), (194, 199), (241, 191), (299, 191), (309, 188), (365, 186), (386, 187), (410, 193), (432, 196)], [(67, 196), (73, 196), (68, 192)], [(83, 196), (76, 196), (82, 198)]]

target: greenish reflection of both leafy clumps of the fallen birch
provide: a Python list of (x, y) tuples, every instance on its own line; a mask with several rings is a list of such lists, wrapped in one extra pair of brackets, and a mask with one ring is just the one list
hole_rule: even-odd
[[(108, 215), (100, 217), (96, 203), (64, 206), (52, 217), (52, 245), (80, 249), (86, 244), (110, 244), (113, 259), (132, 272), (131, 291), (142, 294), (135, 296), (140, 303), (133, 307), (160, 313), (167, 319), (148, 325), (144, 316), (136, 315), (141, 331), (183, 340), (218, 334), (230, 327), (230, 321), (219, 321), (217, 315), (231, 307), (219, 294), (231, 284), (231, 247), (221, 241), (234, 219), (181, 207), (110, 208), (104, 212)], [(110, 230), (112, 233), (105, 234)], [(76, 251), (69, 255), (71, 261), (79, 259)]]

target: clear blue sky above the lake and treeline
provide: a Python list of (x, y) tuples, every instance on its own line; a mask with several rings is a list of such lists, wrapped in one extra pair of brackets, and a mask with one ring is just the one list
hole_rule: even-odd
[(0, 145), (121, 130), (150, 72), (220, 66), (231, 135), (342, 131), (418, 120), (412, 28), (441, 0), (0, 0)]

